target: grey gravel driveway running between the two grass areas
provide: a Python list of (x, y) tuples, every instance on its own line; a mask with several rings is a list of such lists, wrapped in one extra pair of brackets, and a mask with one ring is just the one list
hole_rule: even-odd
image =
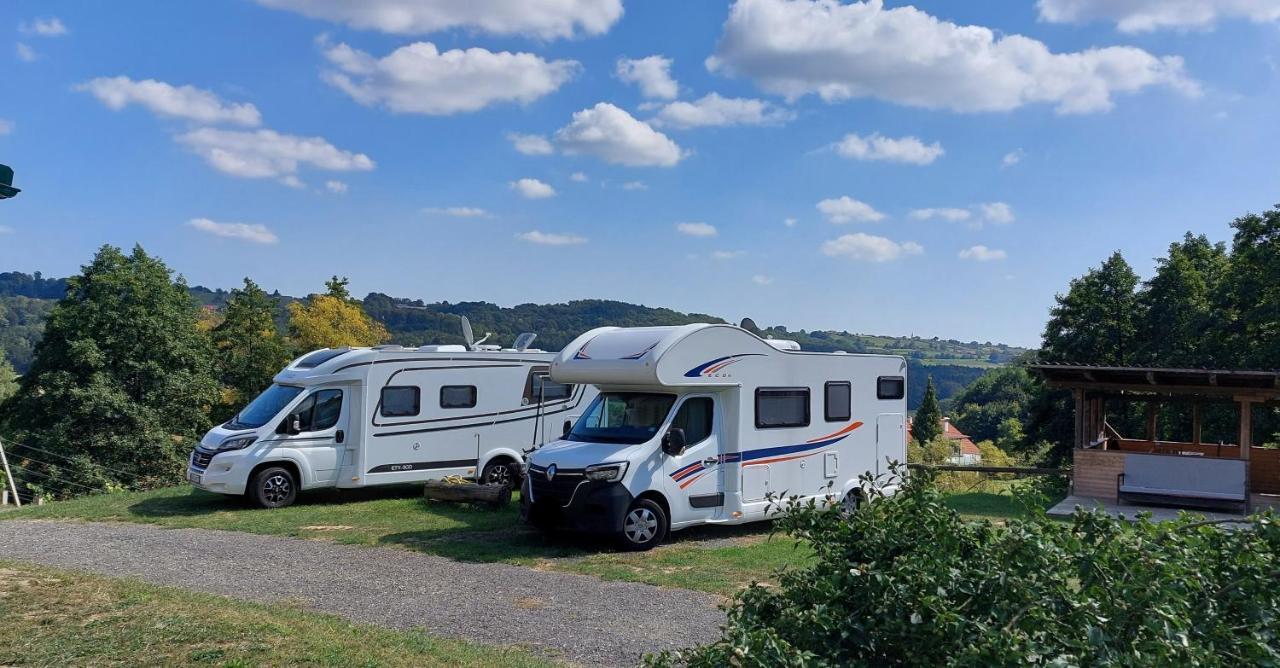
[(577, 664), (634, 665), (648, 651), (713, 640), (724, 619), (696, 591), (204, 529), (0, 521), (0, 558), (289, 601)]

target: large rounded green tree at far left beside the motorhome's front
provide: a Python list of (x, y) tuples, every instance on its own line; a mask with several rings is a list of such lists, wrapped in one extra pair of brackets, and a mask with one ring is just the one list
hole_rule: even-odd
[(180, 480), (216, 388), (186, 283), (141, 247), (104, 246), (68, 280), (0, 415), (45, 450), (17, 450), (42, 491), (150, 488)]

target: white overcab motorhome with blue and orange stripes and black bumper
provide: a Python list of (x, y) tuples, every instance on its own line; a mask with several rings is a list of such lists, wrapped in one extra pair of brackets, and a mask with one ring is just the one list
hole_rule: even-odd
[(600, 394), (529, 456), (521, 514), (628, 549), (763, 520), (771, 493), (856, 503), (863, 473), (906, 461), (901, 357), (801, 352), (732, 325), (603, 328), (550, 375)]

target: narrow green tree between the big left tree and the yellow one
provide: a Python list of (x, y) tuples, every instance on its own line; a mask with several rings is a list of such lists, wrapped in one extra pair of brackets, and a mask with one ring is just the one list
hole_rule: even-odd
[(229, 406), (256, 395), (289, 362), (289, 348), (275, 329), (275, 302), (247, 278), (243, 288), (230, 292), (211, 334)]

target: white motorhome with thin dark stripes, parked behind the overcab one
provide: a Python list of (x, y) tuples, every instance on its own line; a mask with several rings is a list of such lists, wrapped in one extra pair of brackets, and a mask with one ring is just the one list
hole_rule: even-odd
[[(466, 328), (470, 339), (470, 328)], [(265, 508), (300, 490), (474, 476), (517, 485), (524, 453), (556, 438), (595, 397), (554, 383), (554, 353), (424, 346), (325, 348), (275, 383), (191, 453), (187, 480)]]

